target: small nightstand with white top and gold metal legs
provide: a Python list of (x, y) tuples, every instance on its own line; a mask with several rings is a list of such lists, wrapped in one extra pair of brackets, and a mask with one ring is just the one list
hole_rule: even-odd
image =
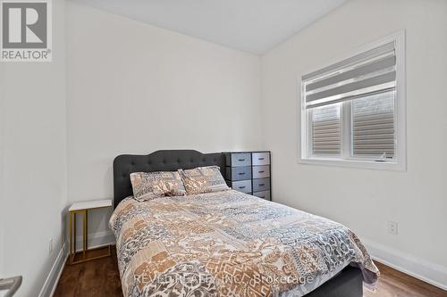
[[(89, 230), (89, 211), (112, 207), (112, 200), (94, 200), (89, 202), (76, 202), (70, 207), (70, 264), (78, 264), (89, 260), (95, 260), (111, 255), (110, 244), (89, 249), (88, 230)], [(82, 214), (82, 251), (76, 252), (76, 215)], [(101, 252), (104, 250), (105, 252)]]

